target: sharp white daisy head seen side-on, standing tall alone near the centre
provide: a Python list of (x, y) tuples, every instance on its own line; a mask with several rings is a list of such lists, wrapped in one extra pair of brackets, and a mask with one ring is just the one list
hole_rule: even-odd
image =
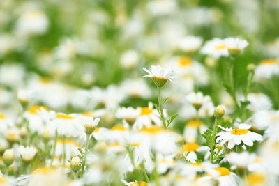
[(163, 68), (160, 65), (151, 65), (150, 71), (146, 68), (143, 69), (145, 72), (149, 73), (149, 75), (143, 77), (152, 77), (157, 86), (163, 86), (167, 82), (167, 79), (173, 82), (173, 70), (171, 68)]

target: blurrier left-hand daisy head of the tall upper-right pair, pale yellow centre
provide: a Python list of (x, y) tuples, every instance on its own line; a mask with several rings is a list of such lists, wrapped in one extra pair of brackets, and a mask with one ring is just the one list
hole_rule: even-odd
[(224, 40), (220, 38), (213, 38), (205, 43), (204, 47), (201, 49), (202, 54), (213, 56), (218, 59), (220, 56), (228, 56), (227, 45)]

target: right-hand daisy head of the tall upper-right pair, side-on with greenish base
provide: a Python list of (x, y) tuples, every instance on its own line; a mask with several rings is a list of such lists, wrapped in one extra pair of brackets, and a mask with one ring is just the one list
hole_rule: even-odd
[(237, 56), (243, 51), (245, 47), (249, 45), (246, 40), (240, 38), (225, 38), (225, 45), (227, 45), (227, 50), (231, 56)]

